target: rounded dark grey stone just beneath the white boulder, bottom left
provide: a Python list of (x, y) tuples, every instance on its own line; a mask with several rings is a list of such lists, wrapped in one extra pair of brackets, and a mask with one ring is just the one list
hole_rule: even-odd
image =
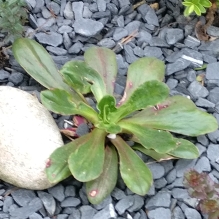
[(36, 198), (36, 194), (27, 189), (18, 189), (11, 193), (13, 199), (20, 206), (26, 206), (32, 199)]

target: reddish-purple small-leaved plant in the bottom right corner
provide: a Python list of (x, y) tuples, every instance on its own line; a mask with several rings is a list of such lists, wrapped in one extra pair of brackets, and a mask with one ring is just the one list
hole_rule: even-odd
[(197, 198), (198, 209), (208, 214), (208, 219), (219, 218), (219, 184), (215, 183), (207, 173), (190, 170), (184, 175), (184, 185), (189, 194)]

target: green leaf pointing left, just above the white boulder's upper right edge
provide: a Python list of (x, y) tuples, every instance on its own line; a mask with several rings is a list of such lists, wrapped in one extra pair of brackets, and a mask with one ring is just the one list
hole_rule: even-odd
[(98, 121), (98, 115), (92, 107), (84, 102), (75, 103), (71, 94), (65, 90), (45, 90), (40, 93), (40, 97), (43, 105), (52, 112), (62, 115), (79, 114), (90, 122)]

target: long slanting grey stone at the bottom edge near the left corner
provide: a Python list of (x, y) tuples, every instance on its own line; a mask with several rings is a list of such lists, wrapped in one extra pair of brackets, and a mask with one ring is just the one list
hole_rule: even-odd
[(32, 199), (27, 206), (12, 209), (9, 211), (11, 216), (16, 216), (20, 219), (26, 219), (33, 213), (39, 211), (43, 207), (42, 201), (39, 198)]

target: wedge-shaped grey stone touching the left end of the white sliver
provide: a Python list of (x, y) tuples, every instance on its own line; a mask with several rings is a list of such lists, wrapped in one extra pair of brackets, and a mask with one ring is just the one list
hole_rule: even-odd
[(166, 65), (166, 75), (171, 75), (177, 71), (186, 69), (190, 65), (190, 61), (183, 58), (177, 59), (174, 63)]

